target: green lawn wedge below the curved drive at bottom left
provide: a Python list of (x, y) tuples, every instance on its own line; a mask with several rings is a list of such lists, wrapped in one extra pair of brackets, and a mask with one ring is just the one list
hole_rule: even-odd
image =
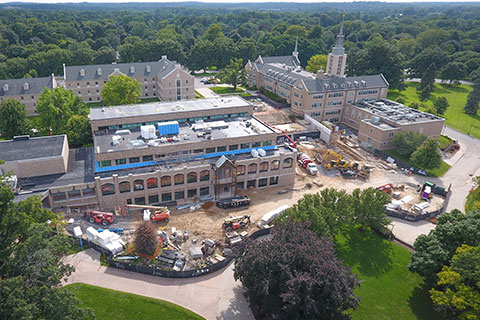
[(203, 317), (176, 304), (125, 293), (83, 283), (66, 286), (82, 301), (83, 307), (95, 311), (98, 320), (102, 319), (142, 319), (142, 320), (186, 320)]

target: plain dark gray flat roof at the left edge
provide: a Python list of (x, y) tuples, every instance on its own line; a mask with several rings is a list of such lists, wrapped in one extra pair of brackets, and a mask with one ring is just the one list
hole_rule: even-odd
[(61, 156), (66, 135), (0, 141), (0, 159), (5, 162)]

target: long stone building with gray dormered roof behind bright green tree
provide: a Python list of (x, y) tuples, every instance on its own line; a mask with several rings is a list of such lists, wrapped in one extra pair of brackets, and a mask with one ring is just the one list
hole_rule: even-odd
[(163, 56), (160, 61), (119, 64), (65, 66), (62, 84), (85, 102), (100, 102), (101, 92), (111, 76), (119, 74), (137, 79), (142, 99), (180, 101), (195, 97), (194, 77), (180, 64)]

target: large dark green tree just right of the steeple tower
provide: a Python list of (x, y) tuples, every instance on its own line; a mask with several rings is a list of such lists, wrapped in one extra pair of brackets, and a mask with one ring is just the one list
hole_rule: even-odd
[(355, 75), (383, 74), (392, 89), (403, 89), (405, 58), (398, 48), (381, 36), (365, 43), (358, 54)]

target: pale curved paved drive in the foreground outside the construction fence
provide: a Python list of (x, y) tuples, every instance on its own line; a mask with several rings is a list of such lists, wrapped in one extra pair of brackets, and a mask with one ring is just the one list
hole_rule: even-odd
[(64, 258), (75, 267), (66, 283), (86, 283), (176, 303), (208, 320), (254, 320), (239, 282), (233, 279), (233, 263), (200, 278), (167, 279), (100, 265), (93, 250)]

